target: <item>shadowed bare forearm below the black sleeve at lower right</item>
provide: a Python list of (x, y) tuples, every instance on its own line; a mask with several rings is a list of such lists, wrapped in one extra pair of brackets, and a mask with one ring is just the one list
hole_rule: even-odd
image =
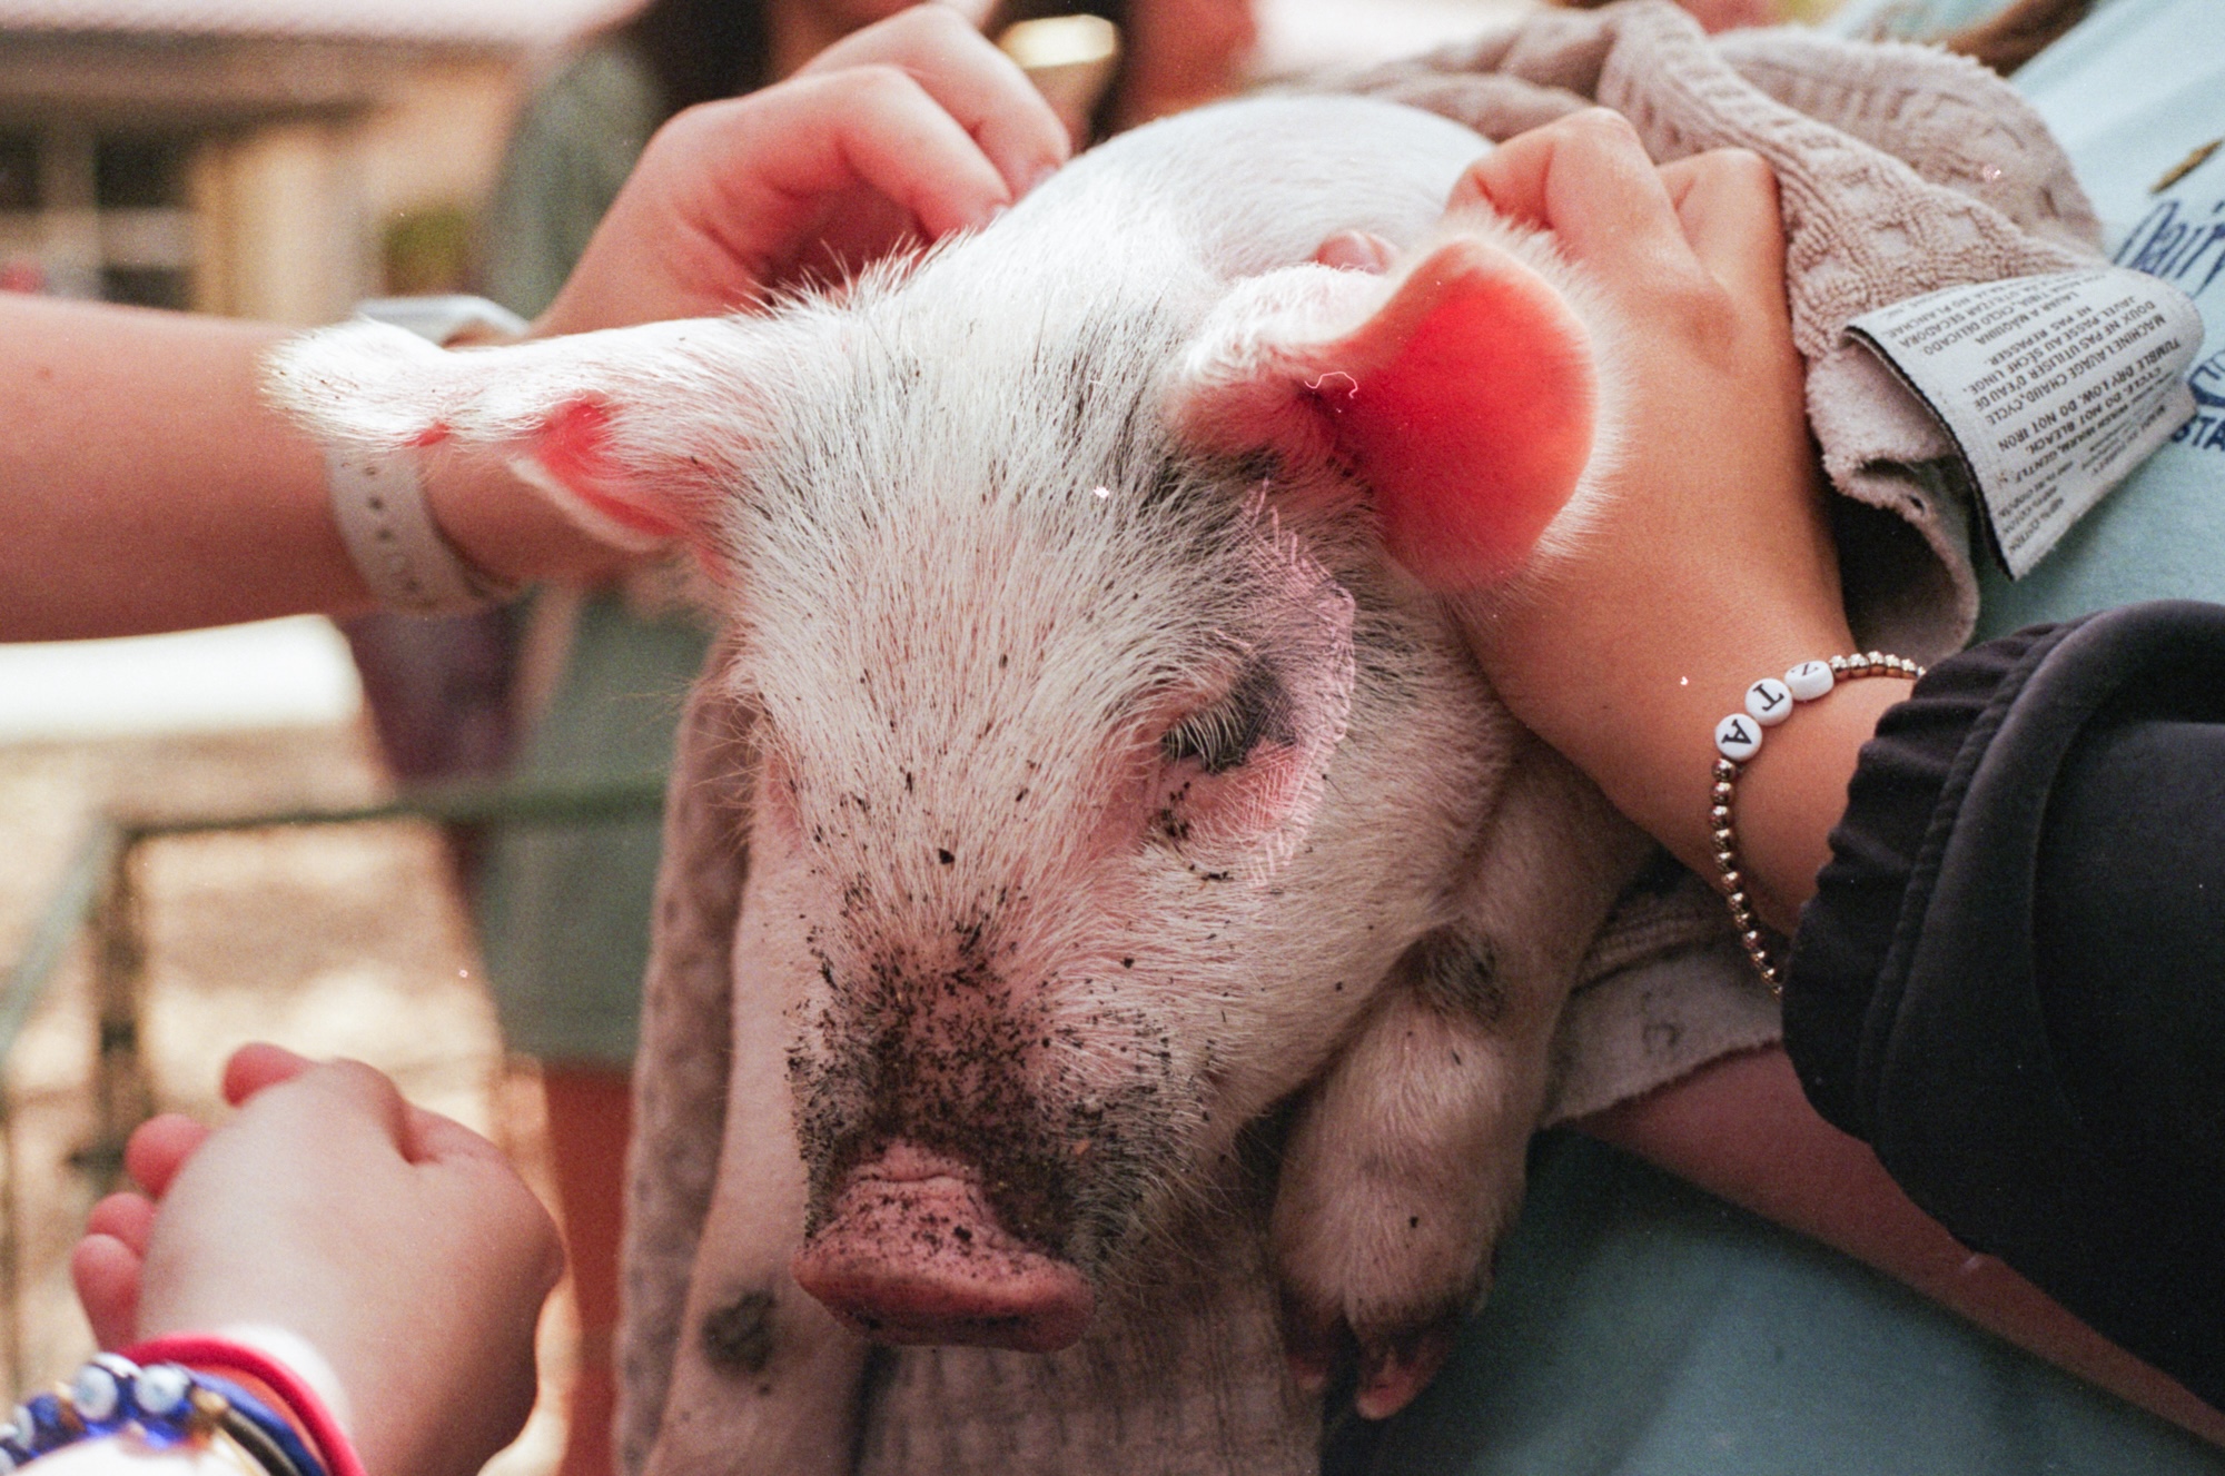
[(1867, 1145), (1816, 1116), (1780, 1049), (1718, 1060), (1580, 1127), (2225, 1445), (2225, 1414), (1909, 1203)]

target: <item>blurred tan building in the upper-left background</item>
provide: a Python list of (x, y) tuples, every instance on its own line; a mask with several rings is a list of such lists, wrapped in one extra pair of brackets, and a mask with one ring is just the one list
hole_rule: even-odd
[(532, 60), (610, 0), (0, 0), (0, 289), (280, 322), (467, 285)]

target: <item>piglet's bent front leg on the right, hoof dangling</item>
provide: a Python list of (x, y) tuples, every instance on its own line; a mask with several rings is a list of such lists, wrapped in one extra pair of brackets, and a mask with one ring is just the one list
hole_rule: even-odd
[(1457, 918), (1400, 960), (1293, 1127), (1273, 1245), (1302, 1380), (1357, 1352), (1386, 1418), (1451, 1354), (1522, 1198), (1553, 1025), (1646, 847), (1533, 738), (1506, 776)]

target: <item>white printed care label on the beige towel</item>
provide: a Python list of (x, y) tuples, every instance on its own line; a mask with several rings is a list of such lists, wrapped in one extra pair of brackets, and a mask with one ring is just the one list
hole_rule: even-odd
[(1916, 391), (1978, 485), (2011, 578), (2194, 413), (2194, 302), (2123, 267), (1949, 287), (1847, 333)]

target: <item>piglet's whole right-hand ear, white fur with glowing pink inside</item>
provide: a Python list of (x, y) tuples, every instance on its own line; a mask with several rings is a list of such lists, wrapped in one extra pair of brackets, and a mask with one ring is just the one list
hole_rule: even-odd
[(1571, 522), (1602, 442), (1595, 331), (1564, 278), (1542, 242), (1504, 231), (1442, 240), (1391, 276), (1253, 278), (1195, 340), (1175, 431), (1286, 465), (1335, 458), (1417, 578), (1497, 582)]

